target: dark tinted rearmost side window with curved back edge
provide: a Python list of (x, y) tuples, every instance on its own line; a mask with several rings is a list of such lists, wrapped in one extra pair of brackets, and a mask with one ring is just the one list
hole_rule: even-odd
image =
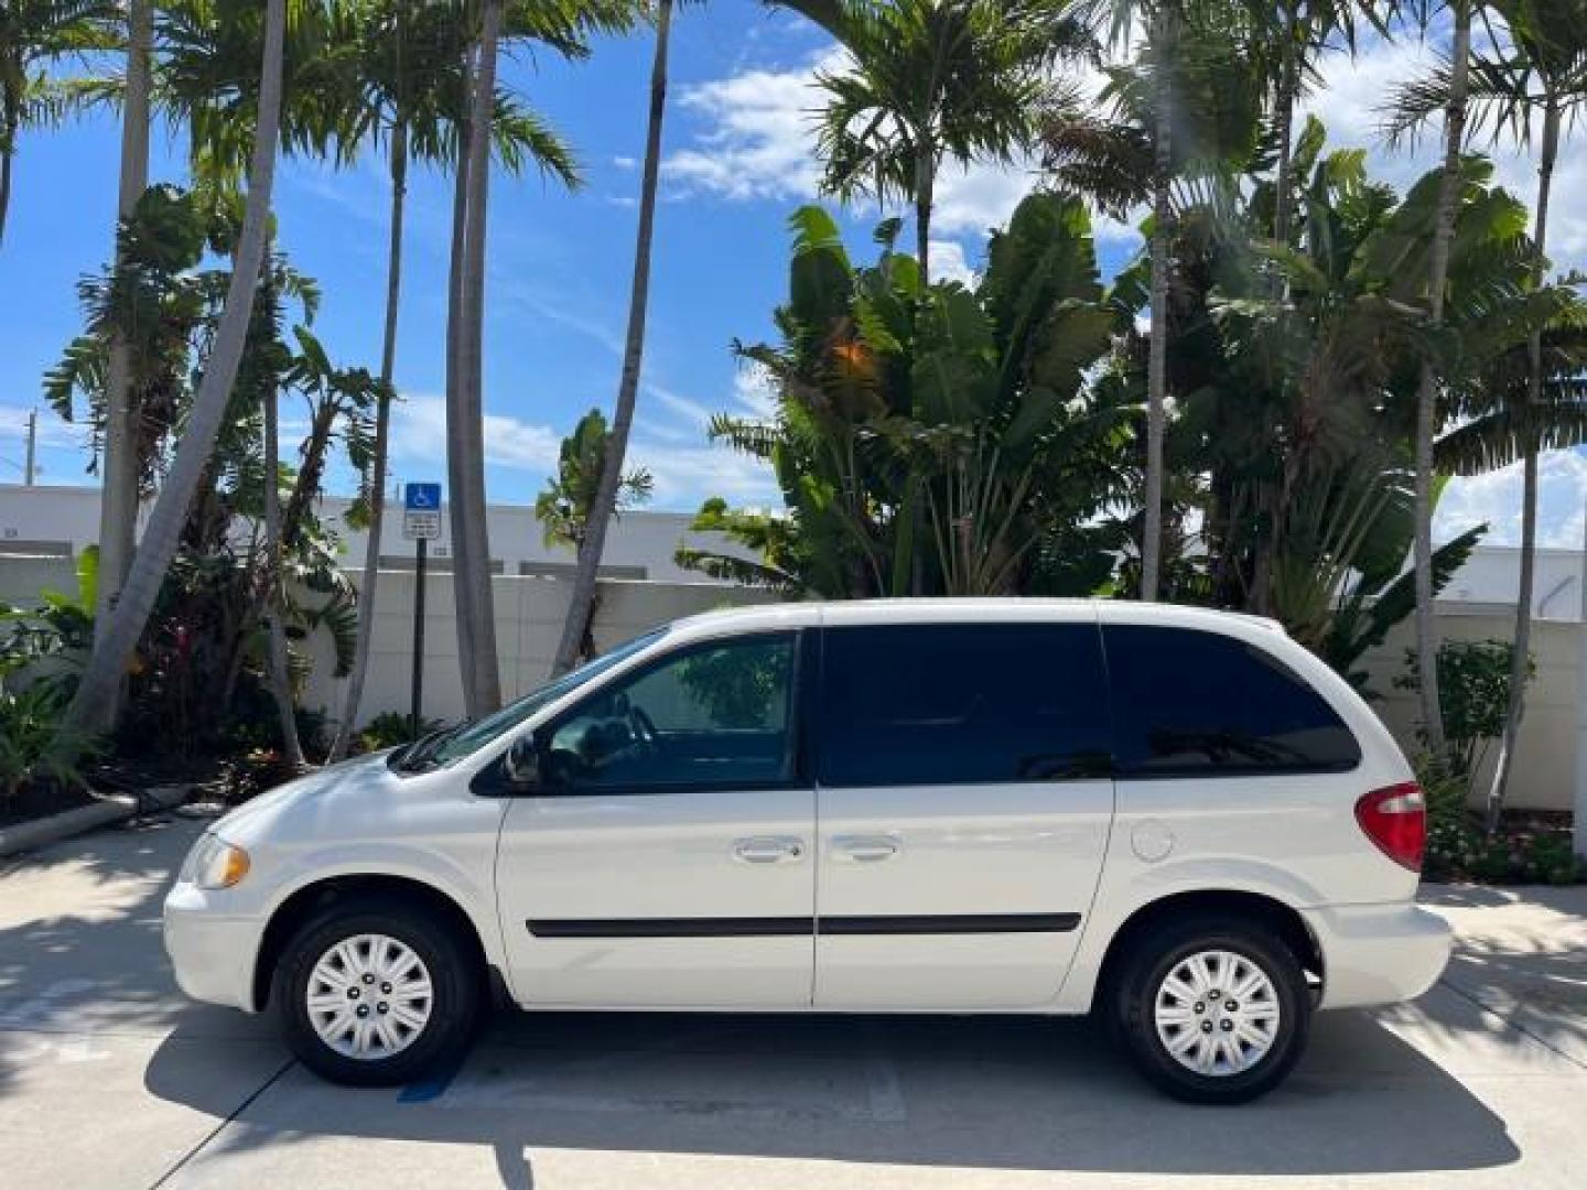
[(1336, 773), (1362, 750), (1333, 708), (1232, 636), (1103, 627), (1120, 776)]

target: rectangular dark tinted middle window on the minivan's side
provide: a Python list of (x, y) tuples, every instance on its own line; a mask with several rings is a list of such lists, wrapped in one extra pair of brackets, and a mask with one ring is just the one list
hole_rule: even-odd
[(1054, 781), (1108, 768), (1101, 643), (1087, 624), (828, 628), (820, 781)]

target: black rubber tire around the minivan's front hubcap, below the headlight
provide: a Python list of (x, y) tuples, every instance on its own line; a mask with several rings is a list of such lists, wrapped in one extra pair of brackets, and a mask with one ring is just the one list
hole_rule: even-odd
[[(308, 985), (316, 963), (338, 942), (359, 935), (394, 938), (416, 954), (430, 976), (428, 1020), (389, 1057), (357, 1058), (332, 1049), (314, 1028)], [(462, 1057), (473, 1039), (482, 996), (479, 960), (457, 927), (421, 903), (336, 901), (294, 935), (276, 965), (271, 1000), (287, 1046), (321, 1077), (349, 1087), (411, 1082)]]

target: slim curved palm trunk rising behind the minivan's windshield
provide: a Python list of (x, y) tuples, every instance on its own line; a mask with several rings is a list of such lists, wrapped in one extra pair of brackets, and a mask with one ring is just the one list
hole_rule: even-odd
[(562, 641), (552, 662), (552, 673), (567, 673), (579, 655), (584, 627), (595, 605), (595, 576), (606, 547), (606, 527), (617, 509), (617, 486), (633, 425), (633, 405), (640, 392), (640, 370), (644, 363), (644, 321), (651, 300), (651, 248), (655, 238), (655, 187), (662, 165), (662, 124), (667, 117), (667, 46), (673, 25), (673, 0), (660, 0), (655, 11), (655, 62), (651, 68), (651, 116), (644, 141), (644, 175), (640, 194), (640, 230), (633, 254), (633, 290), (628, 297), (628, 340), (622, 357), (622, 381), (617, 387), (617, 409), (606, 440), (595, 501), (590, 505), (579, 565), (573, 576), (568, 619), (562, 625)]

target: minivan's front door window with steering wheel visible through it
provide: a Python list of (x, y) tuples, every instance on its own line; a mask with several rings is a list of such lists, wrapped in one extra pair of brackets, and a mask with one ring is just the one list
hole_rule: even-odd
[(713, 641), (592, 695), (552, 727), (551, 790), (735, 789), (794, 776), (795, 636)]

